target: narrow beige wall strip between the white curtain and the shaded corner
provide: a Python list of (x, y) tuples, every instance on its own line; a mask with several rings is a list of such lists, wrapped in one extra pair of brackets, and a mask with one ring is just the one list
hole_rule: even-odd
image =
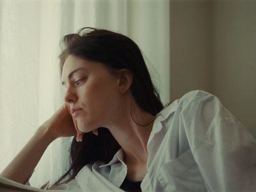
[(212, 10), (204, 1), (171, 3), (171, 100), (211, 92)]

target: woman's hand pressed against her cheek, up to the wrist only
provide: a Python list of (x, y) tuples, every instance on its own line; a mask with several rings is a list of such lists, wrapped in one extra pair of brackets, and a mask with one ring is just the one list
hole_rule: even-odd
[(76, 120), (70, 115), (68, 104), (63, 104), (43, 125), (54, 139), (76, 136), (77, 141), (82, 141), (83, 132), (79, 131)]

